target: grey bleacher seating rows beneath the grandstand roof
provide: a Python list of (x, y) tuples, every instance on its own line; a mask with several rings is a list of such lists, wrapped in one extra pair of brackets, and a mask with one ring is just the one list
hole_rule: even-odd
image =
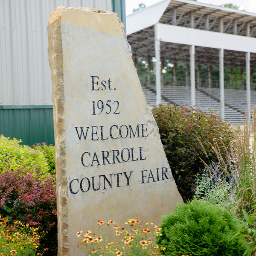
[[(143, 92), (150, 107), (156, 105), (156, 88), (154, 85), (143, 86)], [(190, 87), (163, 86), (161, 90), (163, 105), (176, 104), (190, 107)], [(246, 107), (246, 91), (225, 89), (225, 119), (233, 125), (244, 124)], [(217, 111), (220, 116), (220, 91), (218, 88), (200, 88), (195, 90), (196, 107), (202, 111)], [(256, 105), (256, 91), (251, 92), (251, 108)], [(252, 111), (251, 111), (252, 112)]]

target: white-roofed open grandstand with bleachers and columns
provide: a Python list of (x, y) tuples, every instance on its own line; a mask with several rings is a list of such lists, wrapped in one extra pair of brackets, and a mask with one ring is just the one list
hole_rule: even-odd
[(251, 116), (256, 105), (256, 14), (162, 0), (128, 15), (126, 24), (151, 107), (170, 103), (210, 109), (234, 125), (243, 124), (246, 109)]

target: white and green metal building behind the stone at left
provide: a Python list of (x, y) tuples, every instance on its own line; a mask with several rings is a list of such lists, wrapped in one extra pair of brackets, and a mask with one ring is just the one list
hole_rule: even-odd
[(58, 6), (117, 12), (125, 0), (0, 0), (0, 134), (54, 143), (47, 25)]

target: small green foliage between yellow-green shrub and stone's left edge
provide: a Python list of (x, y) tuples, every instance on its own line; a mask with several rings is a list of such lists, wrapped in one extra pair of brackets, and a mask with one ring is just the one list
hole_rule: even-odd
[(49, 174), (55, 175), (55, 146), (52, 144), (47, 145), (46, 143), (37, 143), (32, 145), (32, 148), (41, 151), (44, 154), (48, 163)]

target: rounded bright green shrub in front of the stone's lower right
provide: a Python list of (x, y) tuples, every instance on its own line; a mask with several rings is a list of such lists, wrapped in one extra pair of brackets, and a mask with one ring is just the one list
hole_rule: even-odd
[(169, 256), (242, 256), (245, 241), (234, 236), (238, 219), (229, 211), (204, 201), (180, 204), (163, 217), (157, 243)]

